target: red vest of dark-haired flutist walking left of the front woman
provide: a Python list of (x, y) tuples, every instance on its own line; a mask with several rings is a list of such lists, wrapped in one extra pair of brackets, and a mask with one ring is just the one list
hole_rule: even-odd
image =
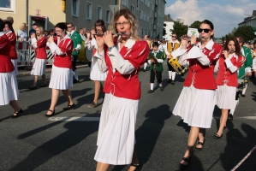
[(69, 68), (72, 69), (71, 54), (73, 50), (73, 41), (67, 36), (61, 40), (58, 40), (58, 48), (63, 52), (63, 55), (54, 55), (53, 64), (59, 68)]

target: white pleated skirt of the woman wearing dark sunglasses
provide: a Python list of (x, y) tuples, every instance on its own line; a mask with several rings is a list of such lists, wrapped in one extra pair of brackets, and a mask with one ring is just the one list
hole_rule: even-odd
[(181, 116), (188, 126), (210, 128), (214, 106), (214, 90), (201, 90), (193, 85), (184, 86), (173, 114)]

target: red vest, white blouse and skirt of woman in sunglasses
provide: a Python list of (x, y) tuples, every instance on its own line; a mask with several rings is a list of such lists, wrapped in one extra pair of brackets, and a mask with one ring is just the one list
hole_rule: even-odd
[(180, 115), (191, 127), (210, 128), (217, 89), (213, 73), (222, 46), (211, 39), (204, 48), (198, 43), (185, 52), (179, 48), (172, 53), (172, 56), (183, 54), (179, 59), (181, 65), (189, 64), (188, 76), (173, 114)]

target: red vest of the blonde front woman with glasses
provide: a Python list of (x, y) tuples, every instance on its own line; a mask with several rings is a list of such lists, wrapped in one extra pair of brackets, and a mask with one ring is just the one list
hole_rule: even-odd
[(105, 60), (109, 70), (104, 83), (104, 92), (111, 93), (116, 97), (138, 100), (141, 93), (138, 74), (140, 67), (144, 64), (149, 54), (148, 44), (146, 41), (135, 41), (129, 50), (123, 46), (120, 54), (124, 60), (128, 60), (134, 66), (134, 72), (132, 74), (120, 74), (116, 71), (114, 73), (110, 57), (108, 53), (105, 53)]

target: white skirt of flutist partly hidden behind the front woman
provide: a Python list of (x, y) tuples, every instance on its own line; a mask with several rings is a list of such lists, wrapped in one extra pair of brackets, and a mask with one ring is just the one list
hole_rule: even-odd
[(91, 71), (90, 71), (90, 79), (91, 80), (100, 80), (104, 81), (107, 78), (108, 72), (101, 73), (98, 69), (98, 62), (95, 62), (93, 65), (93, 57), (92, 57), (92, 63), (91, 63)]

